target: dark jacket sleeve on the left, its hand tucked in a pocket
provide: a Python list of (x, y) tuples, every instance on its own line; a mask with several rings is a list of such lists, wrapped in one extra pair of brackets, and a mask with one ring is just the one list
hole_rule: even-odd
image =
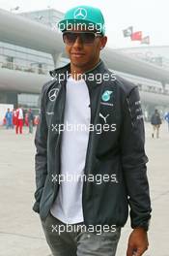
[[(45, 85), (45, 84), (44, 84)], [(44, 109), (44, 87), (42, 87), (41, 94), (41, 113), (40, 122), (37, 126), (35, 145), (37, 148), (35, 155), (35, 171), (36, 171), (36, 192), (35, 192), (35, 204), (33, 209), (36, 212), (40, 212), (40, 201), (42, 198), (42, 189), (44, 186), (45, 178), (47, 175), (47, 124), (45, 120), (45, 109)]]

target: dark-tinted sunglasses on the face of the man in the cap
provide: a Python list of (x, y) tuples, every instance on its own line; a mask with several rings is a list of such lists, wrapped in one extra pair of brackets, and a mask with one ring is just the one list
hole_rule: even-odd
[(66, 31), (63, 33), (63, 41), (66, 45), (69, 45), (69, 46), (75, 43), (77, 37), (80, 38), (83, 44), (90, 45), (94, 43), (96, 38), (102, 37), (102, 35), (100, 35), (99, 33), (86, 32), (86, 31), (80, 31), (80, 32)]

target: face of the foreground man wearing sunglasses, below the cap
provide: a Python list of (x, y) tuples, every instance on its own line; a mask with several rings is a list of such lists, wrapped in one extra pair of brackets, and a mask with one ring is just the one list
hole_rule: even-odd
[[(93, 35), (86, 34), (91, 32)], [(68, 34), (68, 37), (70, 37), (70, 39), (74, 38), (74, 40), (71, 40), (71, 44), (70, 42), (67, 42), (67, 40), (65, 40), (66, 51), (70, 57), (70, 63), (74, 67), (84, 70), (93, 68), (99, 62), (99, 52), (101, 48), (104, 48), (107, 38), (102, 37), (99, 34), (90, 30), (69, 30), (68, 34), (65, 34), (66, 39)], [(85, 38), (94, 38), (94, 35), (95, 39), (92, 41), (92, 43), (86, 43)]]

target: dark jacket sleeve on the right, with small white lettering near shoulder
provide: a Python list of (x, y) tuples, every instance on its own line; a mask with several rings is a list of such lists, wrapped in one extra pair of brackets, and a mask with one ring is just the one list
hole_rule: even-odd
[(127, 95), (123, 112), (121, 153), (131, 227), (148, 230), (152, 209), (146, 167), (148, 158), (144, 149), (144, 121), (137, 87)]

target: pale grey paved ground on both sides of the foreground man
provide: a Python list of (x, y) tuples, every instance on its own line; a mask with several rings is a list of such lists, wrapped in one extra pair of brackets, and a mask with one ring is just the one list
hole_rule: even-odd
[[(147, 154), (153, 200), (150, 249), (145, 256), (169, 256), (169, 133), (162, 125), (160, 139), (146, 125)], [(34, 135), (0, 129), (0, 256), (48, 256), (34, 202)], [(126, 256), (129, 223), (123, 229), (117, 256)], [(69, 256), (69, 255), (68, 255)]]

